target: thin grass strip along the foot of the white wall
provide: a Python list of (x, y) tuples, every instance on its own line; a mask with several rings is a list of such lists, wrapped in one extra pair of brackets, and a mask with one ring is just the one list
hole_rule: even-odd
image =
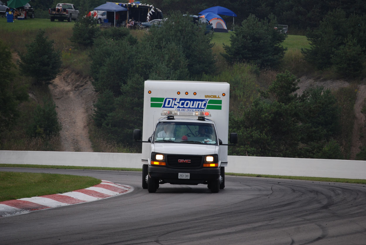
[[(142, 171), (142, 169), (122, 168), (122, 167), (78, 167), (78, 166), (52, 166), (52, 165), (26, 165), (26, 164), (0, 164), (0, 167), (32, 167), (32, 168), (44, 168), (44, 169), (85, 169), (85, 170), (90, 169), (90, 170)], [(238, 174), (238, 173), (225, 173), (225, 175), (366, 184), (366, 180), (344, 179), (344, 178), (320, 178), (320, 177), (304, 177), (304, 176), (280, 176), (280, 175)]]

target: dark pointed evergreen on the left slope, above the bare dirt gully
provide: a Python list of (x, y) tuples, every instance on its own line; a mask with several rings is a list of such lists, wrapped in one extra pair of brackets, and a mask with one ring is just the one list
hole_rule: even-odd
[(48, 40), (45, 30), (40, 30), (34, 41), (26, 46), (26, 53), (18, 53), (20, 70), (33, 78), (36, 85), (50, 84), (61, 67), (61, 55), (53, 49), (53, 40)]

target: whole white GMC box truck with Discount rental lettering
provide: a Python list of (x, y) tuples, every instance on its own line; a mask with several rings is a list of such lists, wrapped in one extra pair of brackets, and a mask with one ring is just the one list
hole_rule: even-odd
[[(142, 188), (160, 184), (206, 184), (213, 193), (225, 187), (230, 134), (230, 84), (225, 82), (145, 81), (142, 144)], [(145, 141), (144, 141), (145, 140)]]

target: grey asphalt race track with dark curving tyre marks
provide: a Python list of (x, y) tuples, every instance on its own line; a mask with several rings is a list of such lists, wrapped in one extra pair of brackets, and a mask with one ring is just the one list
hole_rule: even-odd
[(0, 244), (366, 244), (366, 187), (225, 176), (225, 189), (141, 187), (141, 172), (13, 169), (92, 176), (131, 193), (0, 218)]

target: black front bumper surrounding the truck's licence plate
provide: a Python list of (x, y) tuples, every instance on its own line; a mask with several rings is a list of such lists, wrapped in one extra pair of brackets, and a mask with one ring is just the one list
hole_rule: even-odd
[[(189, 179), (179, 179), (178, 173), (189, 173)], [(148, 167), (148, 174), (152, 178), (163, 180), (170, 184), (204, 184), (207, 181), (218, 180), (220, 178), (220, 168), (202, 169), (171, 169), (163, 166)]]

